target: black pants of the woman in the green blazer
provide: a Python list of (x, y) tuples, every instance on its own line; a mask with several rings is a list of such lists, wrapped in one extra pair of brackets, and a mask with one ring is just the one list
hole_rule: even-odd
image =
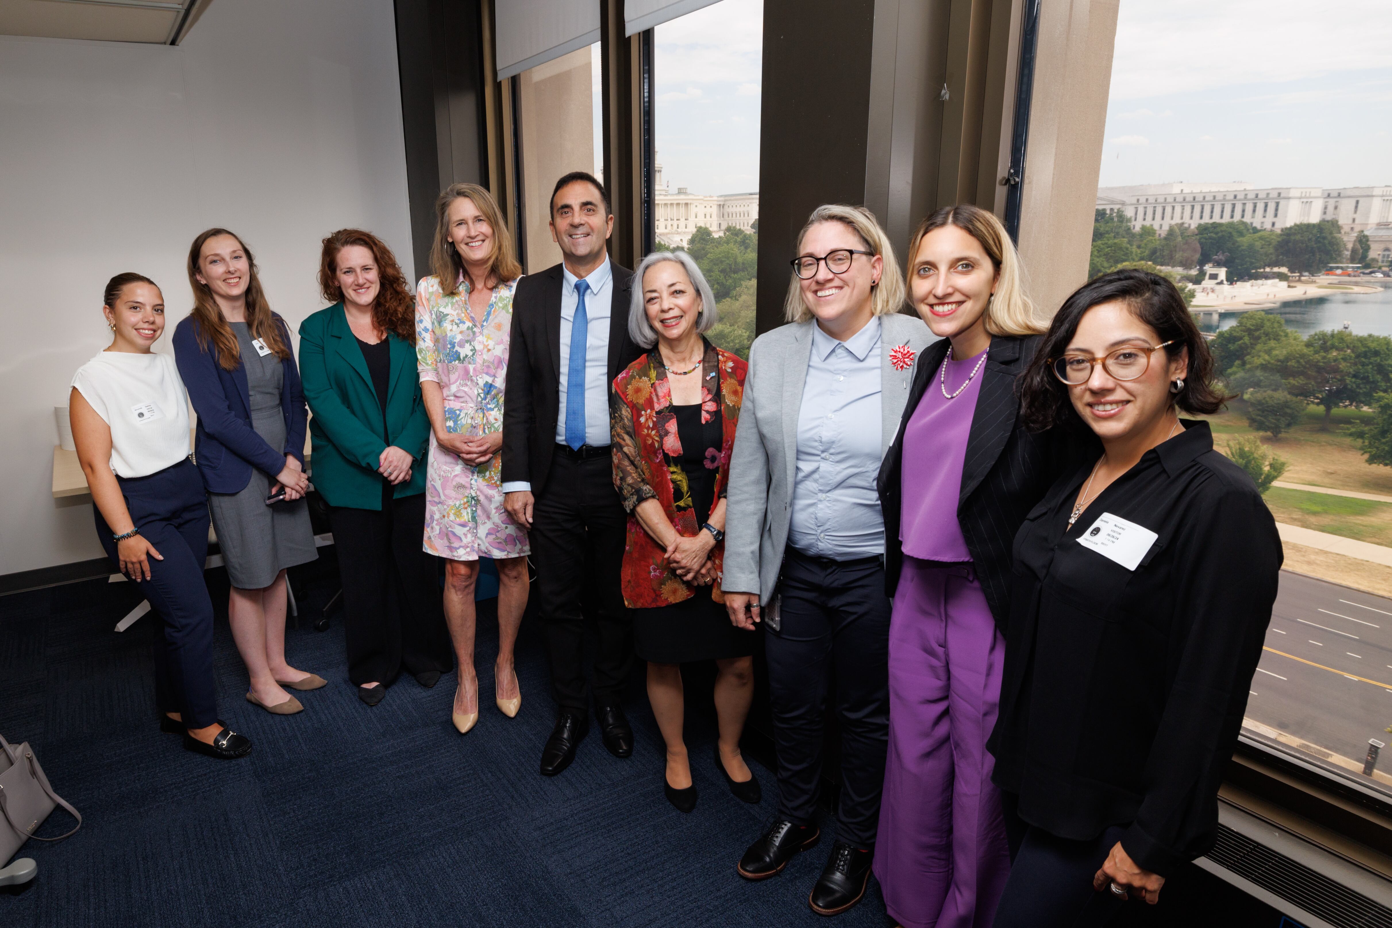
[(391, 683), (408, 673), (454, 666), (440, 600), (438, 562), (422, 550), (426, 494), (391, 498), (381, 509), (330, 506), (329, 525), (344, 587), (348, 679)]

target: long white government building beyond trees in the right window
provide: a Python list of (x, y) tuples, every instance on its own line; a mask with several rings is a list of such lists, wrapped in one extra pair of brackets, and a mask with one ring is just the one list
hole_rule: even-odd
[(1335, 220), (1346, 242), (1359, 232), (1392, 224), (1392, 186), (1271, 186), (1231, 184), (1143, 184), (1097, 188), (1097, 209), (1121, 210), (1133, 230), (1244, 220), (1257, 228)]

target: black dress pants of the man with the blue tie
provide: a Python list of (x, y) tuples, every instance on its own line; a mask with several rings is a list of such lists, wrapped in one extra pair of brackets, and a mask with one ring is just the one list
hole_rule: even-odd
[(536, 494), (530, 537), (551, 686), (562, 710), (583, 714), (589, 704), (582, 601), (593, 604), (599, 632), (594, 703), (617, 705), (622, 696), (633, 661), (632, 622), (619, 584), (626, 530), (607, 449), (582, 458), (557, 445), (546, 487)]

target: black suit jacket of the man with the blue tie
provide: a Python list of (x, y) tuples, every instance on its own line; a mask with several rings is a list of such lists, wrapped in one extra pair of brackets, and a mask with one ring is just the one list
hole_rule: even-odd
[[(611, 260), (614, 299), (610, 309), (608, 381), (643, 349), (628, 337), (633, 271)], [(518, 281), (512, 294), (508, 378), (503, 398), (503, 483), (526, 480), (532, 493), (546, 488), (555, 451), (561, 390), (561, 264)], [(607, 406), (606, 406), (607, 409)]]

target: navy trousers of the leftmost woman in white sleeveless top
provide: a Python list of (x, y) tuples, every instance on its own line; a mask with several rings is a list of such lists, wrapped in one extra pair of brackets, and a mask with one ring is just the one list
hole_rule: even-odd
[[(207, 558), (207, 493), (191, 461), (148, 477), (117, 477), (131, 520), (163, 561), (149, 558), (150, 579), (135, 586), (160, 619), (155, 636), (155, 703), (180, 712), (188, 728), (217, 721), (213, 696), (213, 601), (203, 583)], [(116, 569), (121, 561), (111, 527), (96, 513), (96, 531)]]

